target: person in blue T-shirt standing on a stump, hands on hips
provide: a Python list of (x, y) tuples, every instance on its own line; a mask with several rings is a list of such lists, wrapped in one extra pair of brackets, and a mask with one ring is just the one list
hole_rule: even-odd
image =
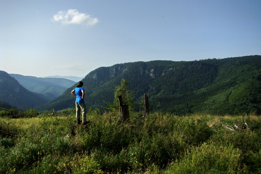
[(76, 97), (75, 106), (76, 106), (76, 118), (77, 118), (77, 124), (81, 124), (81, 112), (82, 112), (82, 122), (84, 125), (87, 123), (90, 123), (89, 121), (86, 121), (86, 104), (84, 102), (84, 88), (83, 82), (79, 81), (78, 85), (74, 90), (71, 91), (71, 94)]

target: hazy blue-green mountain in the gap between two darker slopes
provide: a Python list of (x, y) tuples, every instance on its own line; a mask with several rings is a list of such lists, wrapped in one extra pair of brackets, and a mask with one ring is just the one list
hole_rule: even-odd
[(76, 83), (64, 78), (41, 78), (19, 74), (10, 74), (10, 76), (14, 77), (23, 87), (31, 92), (43, 94), (43, 97), (48, 101), (55, 99)]

